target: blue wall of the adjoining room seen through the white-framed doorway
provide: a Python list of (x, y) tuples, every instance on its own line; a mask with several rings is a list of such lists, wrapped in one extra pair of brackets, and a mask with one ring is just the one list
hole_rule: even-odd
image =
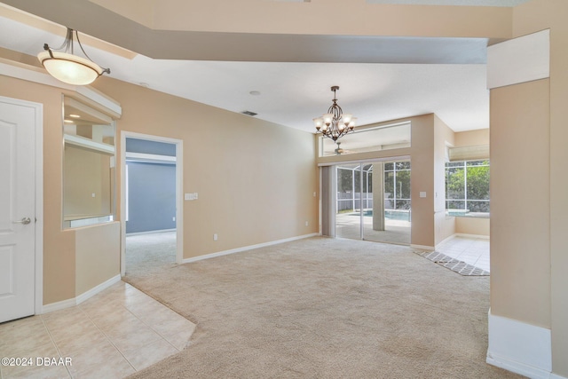
[[(144, 153), (153, 154), (147, 150)], [(129, 181), (126, 233), (175, 229), (176, 165), (145, 162), (126, 164)]]

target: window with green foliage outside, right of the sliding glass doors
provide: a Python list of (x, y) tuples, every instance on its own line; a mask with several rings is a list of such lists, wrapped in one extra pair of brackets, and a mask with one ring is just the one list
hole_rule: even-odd
[(489, 161), (446, 163), (446, 214), (489, 217)]

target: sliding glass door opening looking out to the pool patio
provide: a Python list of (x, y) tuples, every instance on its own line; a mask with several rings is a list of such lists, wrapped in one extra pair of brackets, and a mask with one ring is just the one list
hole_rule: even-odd
[(335, 236), (410, 244), (410, 160), (335, 165)]

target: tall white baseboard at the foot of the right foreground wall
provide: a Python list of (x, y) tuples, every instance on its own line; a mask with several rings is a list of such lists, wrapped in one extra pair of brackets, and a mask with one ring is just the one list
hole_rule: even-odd
[(550, 329), (494, 316), (490, 310), (486, 362), (530, 378), (552, 377)]

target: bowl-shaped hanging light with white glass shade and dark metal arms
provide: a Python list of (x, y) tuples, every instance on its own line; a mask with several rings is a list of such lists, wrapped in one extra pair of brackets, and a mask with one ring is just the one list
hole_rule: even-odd
[[(76, 56), (73, 51), (73, 29), (67, 28), (65, 42), (58, 48), (52, 49), (47, 43), (43, 44), (43, 50), (37, 54), (37, 59), (51, 76), (63, 83), (74, 85), (91, 84), (100, 75), (110, 74), (110, 68), (101, 68), (93, 62), (83, 50), (83, 45), (79, 41), (79, 33), (75, 30), (77, 43), (86, 59)], [(64, 50), (65, 52), (53, 51)]]

